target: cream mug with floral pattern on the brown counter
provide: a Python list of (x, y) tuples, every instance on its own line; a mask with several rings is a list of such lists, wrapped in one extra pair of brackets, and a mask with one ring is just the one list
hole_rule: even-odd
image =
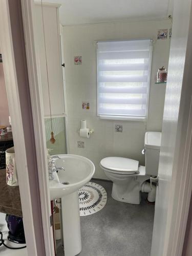
[(6, 154), (6, 181), (9, 186), (18, 186), (17, 167), (14, 146), (8, 148)]

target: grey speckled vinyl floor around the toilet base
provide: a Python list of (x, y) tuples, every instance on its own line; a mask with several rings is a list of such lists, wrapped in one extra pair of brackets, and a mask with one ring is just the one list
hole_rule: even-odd
[[(112, 182), (93, 180), (108, 193), (105, 207), (96, 214), (80, 217), (82, 251), (78, 256), (150, 256), (154, 205), (127, 204), (111, 197)], [(57, 256), (62, 256), (57, 241)]]

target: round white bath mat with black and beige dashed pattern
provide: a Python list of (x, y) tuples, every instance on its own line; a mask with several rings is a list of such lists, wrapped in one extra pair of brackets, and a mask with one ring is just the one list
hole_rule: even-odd
[(105, 206), (107, 199), (108, 195), (104, 187), (94, 182), (88, 182), (79, 189), (80, 216), (95, 214)]

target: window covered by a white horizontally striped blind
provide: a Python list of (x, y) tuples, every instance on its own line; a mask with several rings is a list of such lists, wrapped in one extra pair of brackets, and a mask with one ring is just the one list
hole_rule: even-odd
[(151, 58), (151, 39), (97, 42), (98, 116), (146, 116)]

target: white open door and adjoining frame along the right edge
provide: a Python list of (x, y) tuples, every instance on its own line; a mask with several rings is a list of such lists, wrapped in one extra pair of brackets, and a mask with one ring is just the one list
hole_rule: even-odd
[(192, 190), (191, 16), (191, 0), (174, 2), (151, 256), (181, 256), (185, 238)]

